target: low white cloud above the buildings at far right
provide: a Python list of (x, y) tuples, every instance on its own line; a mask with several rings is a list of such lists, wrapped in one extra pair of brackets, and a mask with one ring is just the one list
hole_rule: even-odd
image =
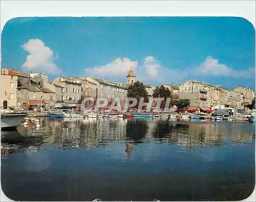
[(220, 64), (218, 59), (208, 56), (203, 63), (192, 69), (195, 75), (214, 75), (222, 77), (250, 78), (254, 77), (254, 68), (234, 70), (225, 64)]

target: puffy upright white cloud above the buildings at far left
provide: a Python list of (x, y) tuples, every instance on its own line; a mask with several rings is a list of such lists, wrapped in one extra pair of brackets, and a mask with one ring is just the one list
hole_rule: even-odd
[[(40, 39), (30, 39), (21, 47), (30, 54), (22, 65), (24, 70), (41, 71), (52, 75), (61, 73), (61, 69), (54, 63), (53, 51), (45, 46), (45, 43)], [(58, 58), (58, 54), (56, 58)]]

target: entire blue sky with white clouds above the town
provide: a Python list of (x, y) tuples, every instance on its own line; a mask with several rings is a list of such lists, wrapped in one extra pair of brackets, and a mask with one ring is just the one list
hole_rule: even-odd
[(14, 18), (2, 33), (2, 67), (146, 84), (255, 82), (255, 31), (234, 17)]

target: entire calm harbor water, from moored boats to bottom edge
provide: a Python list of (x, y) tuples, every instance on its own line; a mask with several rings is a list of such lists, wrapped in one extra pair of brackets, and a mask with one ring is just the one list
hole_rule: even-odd
[(14, 200), (240, 200), (255, 184), (249, 122), (40, 119), (2, 132)]

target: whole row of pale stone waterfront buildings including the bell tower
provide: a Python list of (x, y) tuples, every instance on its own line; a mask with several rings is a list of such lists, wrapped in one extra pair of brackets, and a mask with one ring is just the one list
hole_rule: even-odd
[[(136, 76), (131, 68), (127, 83), (118, 83), (95, 77), (57, 77), (48, 81), (45, 73), (25, 74), (14, 69), (2, 68), (1, 71), (1, 106), (9, 108), (20, 106), (29, 108), (42, 105), (49, 108), (54, 104), (77, 104), (81, 97), (114, 98), (126, 100), (127, 89)], [(144, 85), (148, 96), (152, 96), (157, 86)], [(190, 106), (211, 108), (225, 106), (242, 109), (252, 103), (255, 93), (250, 88), (238, 86), (233, 90), (219, 85), (210, 85), (199, 81), (185, 81), (181, 85), (165, 84), (175, 99), (187, 98)]]

